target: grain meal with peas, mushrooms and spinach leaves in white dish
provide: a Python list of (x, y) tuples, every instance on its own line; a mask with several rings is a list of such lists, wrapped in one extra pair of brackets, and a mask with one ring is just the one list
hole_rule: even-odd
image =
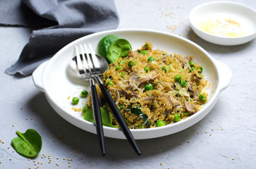
[[(104, 37), (98, 54), (110, 63), (103, 82), (131, 129), (161, 127), (197, 113), (207, 101), (209, 83), (194, 56), (182, 57), (153, 49), (146, 42), (132, 50), (126, 39)], [(97, 87), (103, 125), (118, 127)], [(83, 107), (85, 120), (94, 123), (91, 95)]]

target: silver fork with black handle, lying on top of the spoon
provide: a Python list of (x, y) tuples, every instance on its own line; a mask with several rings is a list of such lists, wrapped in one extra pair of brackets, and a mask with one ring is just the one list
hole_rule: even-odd
[[(135, 139), (132, 136), (132, 132), (129, 130), (129, 127), (125, 123), (124, 118), (122, 117), (122, 114), (119, 111), (119, 108), (117, 108), (115, 101), (112, 99), (112, 96), (110, 95), (109, 92), (107, 92), (107, 89), (105, 88), (103, 82), (100, 80), (99, 74), (100, 72), (102, 72), (102, 69), (100, 68), (100, 63), (98, 61), (98, 58), (95, 56), (95, 52), (93, 51), (91, 44), (88, 44), (88, 46), (90, 48), (90, 52), (88, 52), (87, 46), (86, 44), (84, 44), (84, 49), (86, 50), (86, 57), (82, 57), (83, 61), (81, 61), (83, 62), (84, 68), (88, 68), (88, 71), (86, 69), (86, 73), (91, 73), (91, 75), (98, 82), (100, 90), (103, 93), (103, 96), (105, 97), (105, 101), (107, 101), (107, 104), (110, 107), (110, 110), (114, 115), (115, 119), (117, 120), (117, 123), (120, 126), (122, 132), (124, 133), (124, 136), (127, 138), (129, 144), (131, 144), (134, 151), (136, 151), (136, 154), (140, 155), (141, 151), (139, 150), (139, 147), (137, 146)], [(81, 49), (81, 51), (82, 51), (82, 56), (84, 56), (83, 49)], [(81, 57), (76, 57), (76, 58), (81, 58)]]

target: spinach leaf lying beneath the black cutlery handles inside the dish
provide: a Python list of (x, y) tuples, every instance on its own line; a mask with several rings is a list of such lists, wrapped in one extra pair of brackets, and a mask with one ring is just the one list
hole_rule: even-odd
[[(105, 125), (107, 127), (117, 128), (117, 126), (112, 125), (112, 117), (111, 117), (110, 112), (108, 112), (105, 108), (100, 108), (100, 113), (101, 113), (101, 118), (103, 120), (103, 125)], [(88, 111), (86, 111), (86, 113), (83, 116), (83, 119), (87, 120), (91, 123), (95, 123), (94, 117), (93, 117), (93, 110), (89, 109)]]

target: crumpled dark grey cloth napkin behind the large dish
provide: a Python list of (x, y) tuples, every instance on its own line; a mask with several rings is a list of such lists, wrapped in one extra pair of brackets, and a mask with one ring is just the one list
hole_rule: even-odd
[(119, 24), (113, 0), (1, 0), (0, 24), (41, 26), (33, 30), (18, 61), (6, 73), (31, 75), (70, 42)]

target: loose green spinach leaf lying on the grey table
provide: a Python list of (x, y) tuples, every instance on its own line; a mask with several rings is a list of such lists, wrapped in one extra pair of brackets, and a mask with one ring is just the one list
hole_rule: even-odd
[(37, 131), (28, 129), (25, 133), (17, 131), (16, 134), (18, 137), (11, 141), (11, 145), (18, 154), (27, 158), (34, 158), (39, 154), (42, 149), (42, 137)]

